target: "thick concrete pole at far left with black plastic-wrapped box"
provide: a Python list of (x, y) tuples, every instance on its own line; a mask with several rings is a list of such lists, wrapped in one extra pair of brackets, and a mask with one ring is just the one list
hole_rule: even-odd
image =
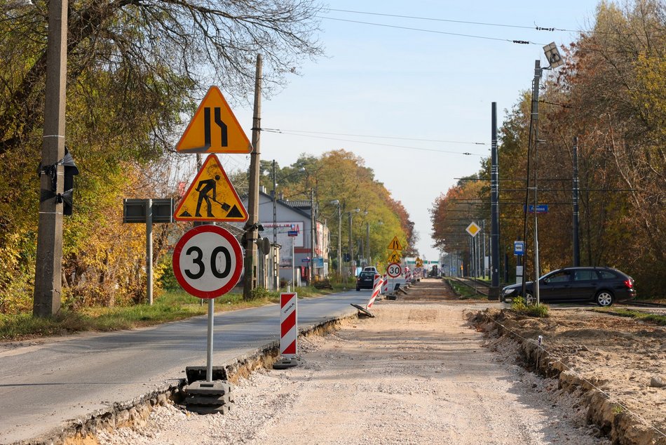
[[(54, 166), (64, 158), (65, 86), (67, 84), (67, 0), (48, 2), (46, 48), (46, 102), (41, 166)], [(55, 193), (62, 194), (64, 167), (58, 165)], [(41, 190), (52, 190), (50, 175), (40, 172)], [(62, 201), (39, 203), (37, 256), (34, 281), (34, 317), (48, 317), (60, 310), (62, 291)]]

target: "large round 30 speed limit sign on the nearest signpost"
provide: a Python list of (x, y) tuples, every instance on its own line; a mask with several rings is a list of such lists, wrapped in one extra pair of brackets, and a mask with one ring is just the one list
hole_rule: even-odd
[(231, 291), (243, 270), (243, 251), (229, 230), (200, 225), (185, 232), (173, 252), (173, 273), (182, 288), (199, 298)]

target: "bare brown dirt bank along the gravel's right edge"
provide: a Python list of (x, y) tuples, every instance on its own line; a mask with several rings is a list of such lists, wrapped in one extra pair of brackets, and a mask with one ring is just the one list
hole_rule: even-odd
[(488, 310), (474, 321), (498, 337), (491, 347), (516, 342), (528, 368), (580, 397), (613, 443), (666, 444), (665, 328), (590, 310), (551, 310), (548, 319)]

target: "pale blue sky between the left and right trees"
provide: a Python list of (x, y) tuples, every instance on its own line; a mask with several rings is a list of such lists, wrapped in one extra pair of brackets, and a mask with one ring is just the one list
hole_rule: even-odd
[[(504, 110), (531, 88), (534, 61), (548, 66), (542, 46), (568, 45), (576, 30), (589, 27), (596, 6), (587, 0), (331, 1), (331, 9), (373, 14), (322, 13), (326, 57), (306, 62), (283, 91), (262, 103), (261, 126), (283, 133), (261, 134), (261, 159), (287, 166), (301, 153), (342, 148), (357, 154), (407, 208), (421, 258), (436, 260), (429, 209), (456, 178), (477, 172), (489, 157), (491, 102), (497, 102), (501, 126)], [(233, 111), (250, 136), (252, 109)], [(247, 165), (249, 157), (233, 155), (224, 168)]]

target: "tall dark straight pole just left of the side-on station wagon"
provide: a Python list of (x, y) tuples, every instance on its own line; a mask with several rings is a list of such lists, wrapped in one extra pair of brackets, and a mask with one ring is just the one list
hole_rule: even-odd
[(490, 291), (489, 300), (499, 300), (499, 161), (497, 152), (497, 102), (491, 104), (490, 166)]

